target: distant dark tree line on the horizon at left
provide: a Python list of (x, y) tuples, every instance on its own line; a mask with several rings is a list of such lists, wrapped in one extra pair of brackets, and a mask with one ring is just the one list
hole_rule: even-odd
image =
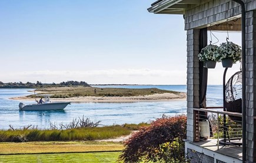
[(82, 86), (82, 87), (91, 87), (87, 82), (84, 81), (67, 81), (67, 82), (61, 82), (59, 84), (55, 84), (52, 82), (52, 84), (45, 84), (39, 81), (36, 81), (36, 83), (32, 82), (1, 82), (0, 81), (0, 88), (38, 88), (38, 87), (71, 87), (71, 86)]

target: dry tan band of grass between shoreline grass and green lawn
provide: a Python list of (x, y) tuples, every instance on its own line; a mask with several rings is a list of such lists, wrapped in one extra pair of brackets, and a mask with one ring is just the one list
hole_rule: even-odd
[(31, 154), (88, 151), (120, 151), (121, 142), (1, 142), (0, 154)]

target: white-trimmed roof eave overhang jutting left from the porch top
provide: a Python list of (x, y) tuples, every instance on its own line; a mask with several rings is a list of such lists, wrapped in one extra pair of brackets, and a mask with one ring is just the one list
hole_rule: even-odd
[(200, 0), (158, 0), (154, 2), (149, 12), (154, 14), (180, 14), (184, 15), (185, 10), (200, 4)]

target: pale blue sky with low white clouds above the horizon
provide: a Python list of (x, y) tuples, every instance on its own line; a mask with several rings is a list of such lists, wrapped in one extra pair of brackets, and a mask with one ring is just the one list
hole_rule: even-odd
[(0, 81), (186, 84), (184, 19), (149, 13), (152, 2), (0, 1)]

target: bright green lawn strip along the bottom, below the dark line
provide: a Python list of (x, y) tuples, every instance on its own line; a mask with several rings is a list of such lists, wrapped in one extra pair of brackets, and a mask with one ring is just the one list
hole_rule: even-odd
[(121, 152), (0, 155), (0, 162), (116, 162)]

